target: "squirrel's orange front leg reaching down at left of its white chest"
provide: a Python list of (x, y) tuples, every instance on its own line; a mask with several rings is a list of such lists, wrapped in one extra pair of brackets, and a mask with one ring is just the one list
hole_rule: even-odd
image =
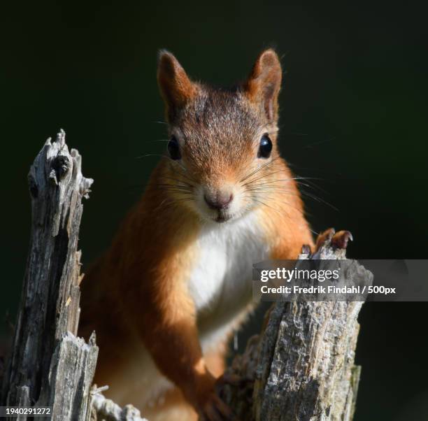
[(157, 279), (150, 285), (142, 291), (144, 305), (140, 301), (134, 306), (145, 348), (159, 371), (180, 388), (202, 420), (229, 419), (231, 410), (215, 394), (217, 379), (208, 371), (202, 355), (196, 311), (185, 285), (167, 279)]

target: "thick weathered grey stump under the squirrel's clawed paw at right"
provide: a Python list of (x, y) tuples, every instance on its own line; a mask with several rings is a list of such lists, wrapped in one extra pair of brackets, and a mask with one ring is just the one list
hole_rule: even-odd
[[(344, 259), (345, 252), (326, 243), (316, 255), (300, 258)], [(346, 276), (373, 280), (356, 261)], [(360, 374), (354, 359), (361, 307), (362, 302), (345, 301), (273, 304), (262, 334), (248, 341), (226, 371), (241, 382), (224, 386), (222, 397), (241, 420), (351, 421)]]

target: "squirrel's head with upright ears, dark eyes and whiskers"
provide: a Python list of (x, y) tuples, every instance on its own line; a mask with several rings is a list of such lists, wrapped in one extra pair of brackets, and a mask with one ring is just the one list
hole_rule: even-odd
[[(157, 80), (169, 124), (169, 194), (205, 220), (224, 222), (259, 206), (278, 158), (278, 55), (265, 50), (231, 90), (190, 80), (159, 53)], [(171, 181), (172, 180), (172, 181)], [(269, 184), (269, 183), (268, 183)]]

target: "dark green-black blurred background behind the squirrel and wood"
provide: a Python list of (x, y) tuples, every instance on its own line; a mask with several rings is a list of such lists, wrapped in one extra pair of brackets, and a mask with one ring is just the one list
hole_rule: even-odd
[[(26, 262), (31, 162), (59, 128), (83, 155), (95, 180), (80, 230), (85, 270), (158, 160), (138, 157), (164, 152), (154, 142), (166, 138), (159, 48), (193, 78), (228, 86), (275, 47), (285, 70), (280, 145), (295, 173), (316, 178), (307, 191), (318, 199), (305, 199), (313, 229), (352, 231), (351, 257), (427, 256), (424, 3), (75, 0), (1, 9), (3, 338)], [(427, 303), (364, 305), (355, 421), (428, 419), (427, 311)]]

